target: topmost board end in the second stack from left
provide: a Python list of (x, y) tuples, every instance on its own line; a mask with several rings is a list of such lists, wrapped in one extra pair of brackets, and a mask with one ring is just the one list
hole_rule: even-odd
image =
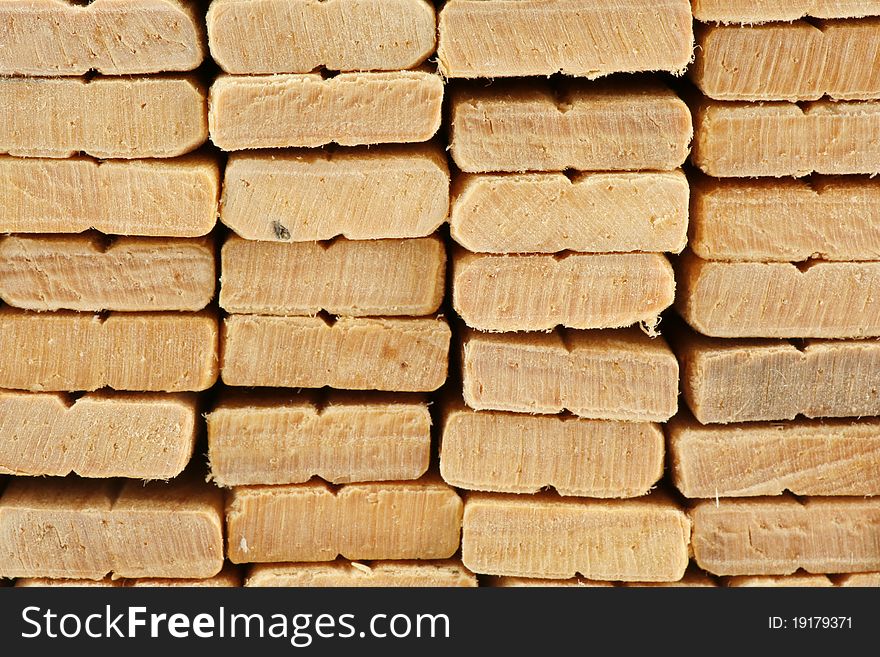
[(426, 0), (215, 0), (211, 55), (227, 73), (392, 71), (434, 52)]

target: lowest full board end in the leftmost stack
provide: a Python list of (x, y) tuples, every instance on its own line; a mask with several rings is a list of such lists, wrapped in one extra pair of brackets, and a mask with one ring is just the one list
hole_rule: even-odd
[(15, 477), (0, 497), (0, 576), (213, 577), (223, 496), (198, 477), (115, 483)]

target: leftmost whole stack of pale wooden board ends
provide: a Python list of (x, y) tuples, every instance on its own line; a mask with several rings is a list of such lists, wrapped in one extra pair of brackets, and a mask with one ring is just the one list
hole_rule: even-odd
[(202, 16), (4, 1), (0, 23), (0, 576), (212, 578), (222, 495), (183, 473), (218, 371), (219, 166), (182, 73)]

